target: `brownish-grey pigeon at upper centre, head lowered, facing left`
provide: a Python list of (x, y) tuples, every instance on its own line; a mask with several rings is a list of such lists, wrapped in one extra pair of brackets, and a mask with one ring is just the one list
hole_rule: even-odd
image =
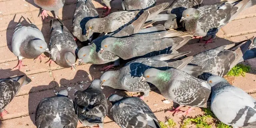
[[(157, 5), (155, 7), (147, 9), (149, 11), (149, 16), (146, 21), (161, 21), (161, 20), (169, 20), (174, 19), (176, 17), (175, 14), (159, 14), (162, 12), (169, 3), (163, 3)], [(143, 12), (143, 10), (139, 11), (119, 11), (109, 14), (104, 18), (94, 18), (90, 19), (85, 28), (87, 30), (86, 33), (90, 35), (91, 32), (98, 33), (110, 33), (118, 30), (120, 27), (127, 26), (134, 20), (136, 20)]]

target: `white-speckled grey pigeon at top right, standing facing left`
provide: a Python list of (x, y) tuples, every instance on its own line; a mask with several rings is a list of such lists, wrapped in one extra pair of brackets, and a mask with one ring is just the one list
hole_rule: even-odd
[[(242, 0), (235, 6), (229, 3), (221, 5), (201, 6), (197, 9), (188, 8), (182, 13), (180, 22), (187, 31), (193, 32), (193, 38), (200, 38), (201, 43), (211, 43), (216, 37), (220, 28), (233, 20), (247, 5), (250, 0)], [(208, 36), (210, 39), (203, 41), (202, 37)]]

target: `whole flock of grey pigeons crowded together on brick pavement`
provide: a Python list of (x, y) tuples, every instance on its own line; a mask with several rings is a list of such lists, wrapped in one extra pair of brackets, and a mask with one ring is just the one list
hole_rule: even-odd
[[(180, 106), (173, 108), (176, 115), (183, 106), (190, 108), (180, 114), (188, 114), (195, 107), (210, 107), (215, 116), (234, 128), (256, 128), (256, 101), (243, 90), (230, 85), (223, 76), (241, 61), (256, 57), (256, 39), (223, 45), (194, 56), (176, 50), (191, 38), (199, 38), (205, 44), (212, 42), (218, 30), (234, 19), (242, 10), (256, 4), (256, 0), (228, 0), (201, 6), (202, 0), (174, 0), (172, 4), (156, 5), (156, 0), (122, 0), (125, 11), (110, 13), (99, 18), (91, 0), (78, 0), (73, 17), (73, 35), (59, 17), (50, 22), (49, 47), (43, 34), (29, 19), (23, 26), (20, 18), (12, 37), (12, 51), (18, 57), (42, 59), (50, 54), (52, 61), (64, 68), (74, 68), (78, 58), (82, 63), (112, 63), (101, 70), (127, 63), (116, 71), (107, 71), (100, 79), (92, 81), (84, 91), (75, 93), (75, 100), (68, 98), (68, 91), (44, 98), (37, 106), (37, 128), (76, 128), (78, 120), (84, 125), (103, 128), (108, 114), (107, 99), (112, 103), (111, 114), (122, 128), (160, 128), (149, 106), (142, 100), (149, 95), (152, 85), (161, 94)], [(34, 0), (43, 9), (58, 16), (65, 0)], [(169, 7), (168, 7), (169, 6)], [(159, 14), (167, 10), (167, 14)], [(109, 14), (110, 13), (110, 14)], [(24, 18), (25, 19), (25, 18)], [(156, 21), (165, 21), (156, 25)], [(154, 24), (152, 27), (147, 27)], [(146, 28), (145, 28), (146, 27)], [(184, 28), (186, 31), (178, 31)], [(174, 30), (177, 29), (177, 30)], [(204, 40), (202, 37), (209, 37)], [(75, 38), (74, 38), (75, 37)], [(90, 44), (78, 48), (76, 40)], [(31, 80), (27, 76), (14, 76), (0, 80), (0, 112), (3, 116), (8, 103), (20, 88)], [(104, 86), (129, 92), (143, 92), (140, 97), (121, 97), (113, 94), (107, 99)]]

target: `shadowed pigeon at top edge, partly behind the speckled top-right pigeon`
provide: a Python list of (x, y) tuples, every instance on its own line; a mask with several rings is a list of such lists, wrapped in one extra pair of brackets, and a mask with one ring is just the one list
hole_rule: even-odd
[[(167, 13), (175, 14), (177, 16), (176, 23), (180, 25), (179, 21), (182, 17), (182, 12), (188, 8), (198, 8), (202, 2), (203, 0), (174, 0), (169, 6), (170, 9), (167, 10)], [(170, 22), (170, 20), (166, 21), (165, 24), (167, 24), (167, 22)]]

